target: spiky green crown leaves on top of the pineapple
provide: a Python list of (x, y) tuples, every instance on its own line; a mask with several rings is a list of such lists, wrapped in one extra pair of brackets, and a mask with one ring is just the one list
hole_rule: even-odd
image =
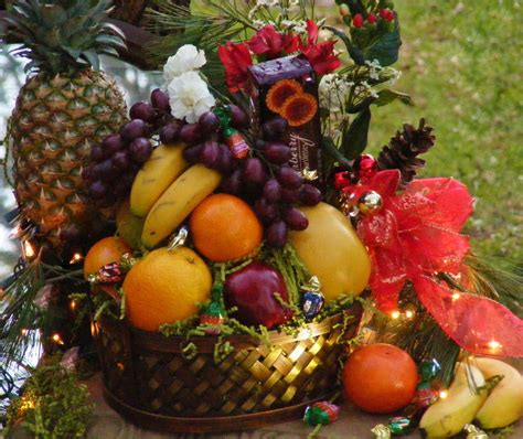
[(99, 69), (98, 55), (117, 56), (126, 47), (122, 32), (105, 22), (110, 10), (110, 0), (19, 0), (6, 19), (22, 42), (12, 53), (30, 60), (25, 72)]

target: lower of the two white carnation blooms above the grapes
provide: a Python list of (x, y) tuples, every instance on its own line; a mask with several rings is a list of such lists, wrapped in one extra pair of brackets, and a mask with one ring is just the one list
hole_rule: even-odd
[(194, 124), (216, 103), (207, 84), (196, 72), (177, 76), (168, 86), (171, 113), (178, 119)]

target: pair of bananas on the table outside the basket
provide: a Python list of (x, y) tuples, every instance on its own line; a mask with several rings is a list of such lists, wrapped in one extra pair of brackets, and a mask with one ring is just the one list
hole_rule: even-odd
[[(488, 394), (485, 378), (502, 381)], [(476, 358), (474, 365), (458, 363), (456, 377), (445, 399), (425, 411), (419, 428), (427, 438), (458, 435), (474, 419), (481, 428), (505, 427), (523, 415), (523, 377), (512, 366), (493, 358)]]

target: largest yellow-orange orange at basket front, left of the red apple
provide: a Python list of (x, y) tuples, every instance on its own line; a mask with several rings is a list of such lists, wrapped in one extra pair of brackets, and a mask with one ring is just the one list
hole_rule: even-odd
[(158, 331), (198, 313), (198, 303), (211, 297), (211, 270), (193, 250), (167, 247), (149, 253), (124, 280), (126, 315), (143, 331)]

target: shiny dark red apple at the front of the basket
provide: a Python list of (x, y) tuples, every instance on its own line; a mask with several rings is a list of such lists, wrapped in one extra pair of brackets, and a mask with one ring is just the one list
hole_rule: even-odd
[(271, 329), (292, 315), (292, 311), (275, 298), (275, 292), (288, 301), (281, 274), (267, 264), (254, 261), (227, 278), (224, 298), (227, 308), (237, 307), (234, 317), (242, 323), (263, 324)]

